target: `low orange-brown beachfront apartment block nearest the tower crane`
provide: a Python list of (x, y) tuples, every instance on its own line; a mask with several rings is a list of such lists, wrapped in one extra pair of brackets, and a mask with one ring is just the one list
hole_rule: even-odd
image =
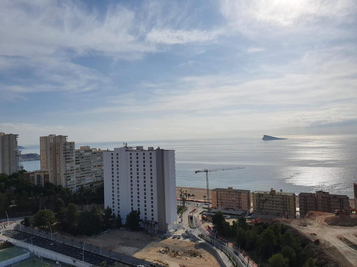
[(212, 209), (249, 211), (250, 190), (228, 188), (212, 189)]

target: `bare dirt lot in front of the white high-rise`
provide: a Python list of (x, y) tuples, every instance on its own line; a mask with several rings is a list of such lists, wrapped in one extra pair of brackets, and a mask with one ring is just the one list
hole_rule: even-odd
[[(220, 266), (215, 257), (204, 248), (186, 239), (177, 240), (170, 237), (162, 240), (155, 235), (142, 232), (113, 230), (97, 237), (89, 237), (86, 242), (96, 246), (103, 244), (108, 250), (145, 258), (152, 262), (164, 262), (173, 267)], [(161, 248), (166, 253), (160, 253)]]

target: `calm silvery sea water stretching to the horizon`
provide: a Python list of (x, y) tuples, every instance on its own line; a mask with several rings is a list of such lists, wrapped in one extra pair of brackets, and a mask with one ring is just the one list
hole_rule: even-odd
[[(287, 136), (288, 140), (250, 138), (127, 141), (129, 146), (160, 146), (176, 150), (176, 185), (206, 187), (205, 173), (195, 170), (241, 166), (245, 169), (209, 173), (210, 188), (286, 192), (324, 190), (353, 196), (357, 180), (357, 135)], [(123, 142), (91, 142), (91, 147), (110, 150)], [(22, 144), (20, 144), (22, 145)], [(76, 143), (79, 148), (84, 143)], [(118, 146), (119, 145), (119, 146)], [(22, 153), (39, 153), (39, 145), (23, 145)], [(22, 162), (27, 171), (40, 161)]]

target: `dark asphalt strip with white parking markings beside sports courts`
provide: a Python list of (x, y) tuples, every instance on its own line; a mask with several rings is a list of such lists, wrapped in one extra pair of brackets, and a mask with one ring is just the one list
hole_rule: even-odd
[[(70, 245), (65, 245), (60, 242), (56, 242), (41, 236), (36, 236), (32, 234), (28, 234), (26, 232), (22, 232), (19, 230), (4, 230), (2, 235), (6, 237), (10, 237), (12, 239), (16, 239), (22, 242), (26, 242), (29, 244), (32, 244), (34, 246), (42, 247), (47, 250), (51, 250), (66, 256), (69, 256), (71, 258), (75, 258), (77, 260), (82, 260), (83, 259), (83, 249), (73, 247)], [(32, 239), (32, 241), (31, 241)], [(53, 244), (53, 245), (51, 245)], [(103, 255), (90, 252), (87, 250), (84, 250), (84, 261), (90, 263), (91, 265), (97, 265), (103, 261), (106, 261), (107, 265), (112, 265), (115, 262), (119, 262), (115, 259), (105, 257)], [(119, 263), (117, 266), (135, 266), (135, 265), (129, 265), (127, 263)]]

